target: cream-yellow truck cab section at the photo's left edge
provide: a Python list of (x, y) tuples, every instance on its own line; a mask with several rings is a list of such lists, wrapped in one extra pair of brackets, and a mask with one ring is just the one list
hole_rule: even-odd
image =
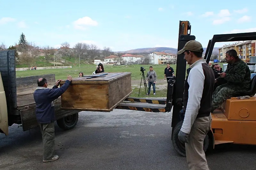
[(8, 135), (8, 112), (7, 103), (4, 92), (4, 84), (0, 72), (0, 132)]

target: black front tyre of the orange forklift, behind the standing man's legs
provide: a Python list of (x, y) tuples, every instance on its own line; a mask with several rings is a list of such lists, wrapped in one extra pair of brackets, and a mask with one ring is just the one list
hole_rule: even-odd
[[(185, 144), (182, 144), (179, 140), (178, 134), (180, 132), (181, 126), (182, 126), (183, 121), (180, 121), (179, 123), (177, 123), (177, 125), (175, 126), (174, 130), (173, 130), (173, 134), (172, 134), (172, 144), (174, 149), (183, 157), (186, 157), (186, 149), (185, 149)], [(209, 145), (211, 144), (210, 142), (210, 138), (209, 135), (207, 134), (204, 138), (204, 152), (207, 151), (209, 147)]]

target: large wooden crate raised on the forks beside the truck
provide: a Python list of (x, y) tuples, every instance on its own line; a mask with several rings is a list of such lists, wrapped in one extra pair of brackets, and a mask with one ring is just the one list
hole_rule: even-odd
[[(96, 75), (102, 74), (106, 73)], [(71, 85), (61, 95), (61, 109), (112, 111), (132, 93), (131, 73), (107, 73), (105, 76), (73, 78)], [(64, 82), (61, 81), (60, 86)]]

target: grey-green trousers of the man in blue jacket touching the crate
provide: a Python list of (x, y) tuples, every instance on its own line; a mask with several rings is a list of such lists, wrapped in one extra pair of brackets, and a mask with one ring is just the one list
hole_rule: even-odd
[(55, 133), (54, 122), (51, 123), (39, 123), (41, 134), (43, 137), (43, 160), (52, 159), (55, 151)]

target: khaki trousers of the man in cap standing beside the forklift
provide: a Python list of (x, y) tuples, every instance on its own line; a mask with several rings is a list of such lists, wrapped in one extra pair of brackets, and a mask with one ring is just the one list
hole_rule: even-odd
[(188, 168), (190, 170), (209, 170), (203, 146), (204, 138), (211, 129), (212, 117), (196, 118), (192, 125), (188, 144), (185, 143)]

